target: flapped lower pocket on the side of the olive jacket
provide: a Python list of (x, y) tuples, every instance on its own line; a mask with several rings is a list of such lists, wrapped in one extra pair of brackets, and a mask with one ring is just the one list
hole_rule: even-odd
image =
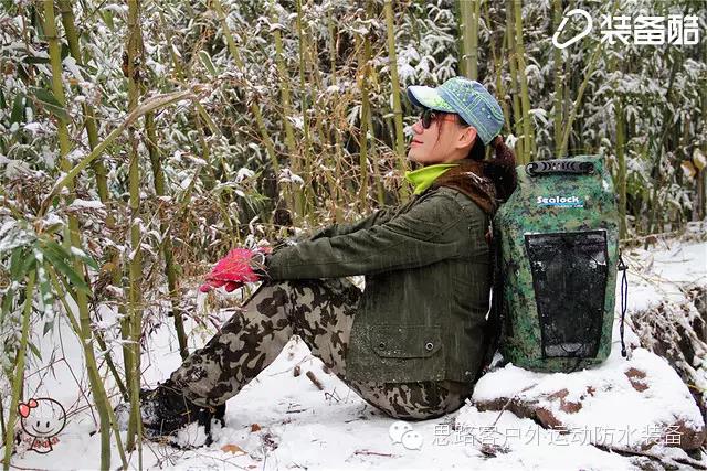
[(372, 325), (371, 349), (383, 358), (426, 358), (442, 350), (440, 325)]

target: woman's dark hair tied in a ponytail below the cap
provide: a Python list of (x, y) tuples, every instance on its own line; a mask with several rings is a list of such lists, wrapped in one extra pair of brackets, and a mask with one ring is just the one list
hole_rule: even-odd
[[(456, 116), (461, 126), (468, 126), (460, 115)], [(490, 147), (494, 148), (494, 158), (484, 160), (486, 158), (486, 146), (484, 146), (484, 141), (476, 136), (467, 158), (483, 162), (484, 176), (488, 176), (494, 182), (494, 186), (496, 186), (496, 197), (500, 201), (506, 201), (510, 197), (518, 184), (516, 176), (516, 154), (506, 146), (500, 135), (490, 141)]]

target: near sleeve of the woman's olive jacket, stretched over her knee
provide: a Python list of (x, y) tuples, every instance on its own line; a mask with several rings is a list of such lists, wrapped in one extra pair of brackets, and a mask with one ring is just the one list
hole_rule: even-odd
[(283, 247), (266, 258), (265, 271), (273, 280), (338, 278), (455, 258), (464, 240), (449, 229), (461, 218), (453, 200), (433, 194), (386, 223)]

